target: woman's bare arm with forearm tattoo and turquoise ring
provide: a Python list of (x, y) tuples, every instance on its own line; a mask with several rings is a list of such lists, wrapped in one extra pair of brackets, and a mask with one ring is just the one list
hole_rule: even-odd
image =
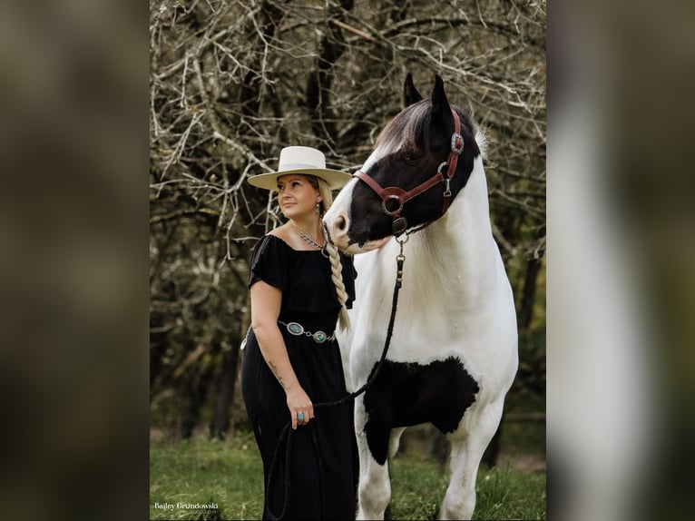
[(282, 291), (263, 280), (250, 289), (251, 329), (259, 342), (260, 354), (285, 389), (292, 428), (297, 428), (297, 413), (303, 412), (305, 423), (314, 418), (314, 406), (299, 385), (297, 374), (289, 362), (285, 340), (278, 327)]

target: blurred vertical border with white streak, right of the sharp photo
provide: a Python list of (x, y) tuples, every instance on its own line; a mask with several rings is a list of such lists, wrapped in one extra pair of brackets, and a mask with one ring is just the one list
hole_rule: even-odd
[(549, 515), (685, 518), (695, 10), (549, 7)]

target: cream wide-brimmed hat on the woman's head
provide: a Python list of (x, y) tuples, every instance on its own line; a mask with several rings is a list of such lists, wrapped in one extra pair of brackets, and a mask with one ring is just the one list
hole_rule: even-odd
[(253, 186), (266, 190), (278, 190), (278, 178), (289, 173), (314, 175), (328, 182), (331, 190), (338, 190), (352, 178), (349, 173), (326, 168), (326, 157), (323, 152), (315, 148), (287, 146), (280, 151), (278, 172), (253, 175), (249, 178), (249, 182)]

